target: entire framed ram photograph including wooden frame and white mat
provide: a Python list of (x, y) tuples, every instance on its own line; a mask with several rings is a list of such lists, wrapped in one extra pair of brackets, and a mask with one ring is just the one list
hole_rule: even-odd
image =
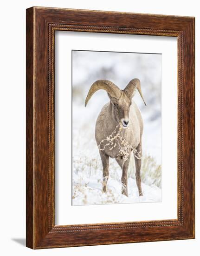
[(194, 17), (26, 10), (26, 246), (194, 238)]

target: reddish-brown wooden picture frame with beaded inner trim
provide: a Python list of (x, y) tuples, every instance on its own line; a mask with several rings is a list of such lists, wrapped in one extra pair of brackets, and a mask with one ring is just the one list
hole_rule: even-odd
[[(55, 31), (173, 36), (178, 42), (177, 219), (55, 225)], [(194, 238), (194, 17), (26, 9), (26, 246)]]

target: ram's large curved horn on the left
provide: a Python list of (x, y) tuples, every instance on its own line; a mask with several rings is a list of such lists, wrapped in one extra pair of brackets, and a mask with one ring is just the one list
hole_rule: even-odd
[(113, 82), (109, 80), (97, 80), (90, 87), (90, 90), (85, 100), (85, 107), (87, 106), (91, 96), (97, 90), (100, 90), (100, 89), (107, 91), (107, 93), (109, 93), (111, 97), (115, 97), (117, 99), (119, 99), (119, 97), (122, 94), (122, 91), (120, 90), (120, 88), (118, 88)]

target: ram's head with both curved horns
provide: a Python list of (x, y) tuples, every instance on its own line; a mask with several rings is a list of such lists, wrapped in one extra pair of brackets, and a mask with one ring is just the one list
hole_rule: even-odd
[[(112, 103), (112, 111), (114, 113), (115, 119), (118, 123), (121, 123), (123, 128), (129, 126), (129, 110), (131, 105), (132, 97), (135, 93), (135, 89), (140, 93), (142, 100), (142, 90), (140, 85), (140, 80), (135, 78), (129, 82), (124, 90), (120, 90), (113, 82), (108, 80), (97, 80), (92, 84), (88, 95), (85, 100), (85, 107), (90, 100), (91, 96), (97, 90), (106, 90), (110, 101)], [(145, 101), (144, 104), (146, 105)]]

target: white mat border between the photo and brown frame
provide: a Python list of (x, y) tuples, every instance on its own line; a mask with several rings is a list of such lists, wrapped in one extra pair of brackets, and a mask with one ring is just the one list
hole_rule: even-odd
[[(78, 207), (71, 205), (71, 49), (80, 47), (84, 50), (131, 52), (134, 49), (135, 52), (162, 53), (162, 202)], [(66, 225), (176, 219), (177, 112), (174, 109), (177, 109), (177, 39), (56, 32), (55, 80), (55, 223)], [(125, 216), (123, 212), (126, 212)]]

